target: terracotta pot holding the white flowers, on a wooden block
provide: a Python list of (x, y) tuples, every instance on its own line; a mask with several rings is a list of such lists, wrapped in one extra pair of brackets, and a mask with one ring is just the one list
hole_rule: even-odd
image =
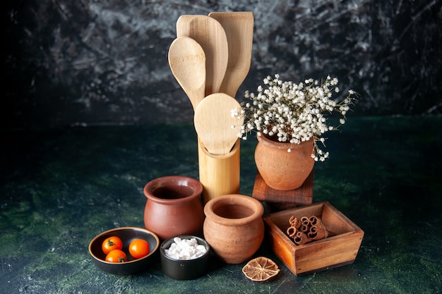
[[(301, 187), (315, 164), (311, 158), (313, 139), (301, 144), (291, 144), (270, 140), (265, 135), (256, 137), (256, 168), (265, 184), (283, 191)], [(288, 149), (291, 151), (288, 152)]]

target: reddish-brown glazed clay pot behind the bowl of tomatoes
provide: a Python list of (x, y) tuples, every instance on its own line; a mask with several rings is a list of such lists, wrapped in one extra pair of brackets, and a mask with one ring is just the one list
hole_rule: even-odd
[(186, 176), (165, 176), (144, 187), (148, 198), (144, 225), (162, 240), (177, 235), (201, 235), (204, 211), (200, 195), (203, 185)]

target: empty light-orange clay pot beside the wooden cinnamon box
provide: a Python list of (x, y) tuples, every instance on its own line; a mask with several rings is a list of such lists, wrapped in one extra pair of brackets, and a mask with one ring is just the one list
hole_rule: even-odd
[(263, 241), (263, 213), (263, 204), (249, 196), (229, 194), (213, 198), (204, 207), (204, 238), (223, 262), (244, 262)]

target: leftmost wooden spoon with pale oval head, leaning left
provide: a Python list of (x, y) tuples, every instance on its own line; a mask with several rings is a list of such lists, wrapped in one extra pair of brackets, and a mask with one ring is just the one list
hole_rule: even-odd
[(179, 85), (189, 97), (193, 110), (204, 98), (205, 54), (198, 42), (178, 37), (170, 44), (169, 66)]

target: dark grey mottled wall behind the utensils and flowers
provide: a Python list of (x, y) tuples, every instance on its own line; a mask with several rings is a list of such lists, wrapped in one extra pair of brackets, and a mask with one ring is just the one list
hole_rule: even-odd
[(192, 121), (167, 63), (177, 18), (253, 11), (251, 71), (340, 80), (356, 115), (441, 114), (442, 0), (8, 1), (3, 128)]

